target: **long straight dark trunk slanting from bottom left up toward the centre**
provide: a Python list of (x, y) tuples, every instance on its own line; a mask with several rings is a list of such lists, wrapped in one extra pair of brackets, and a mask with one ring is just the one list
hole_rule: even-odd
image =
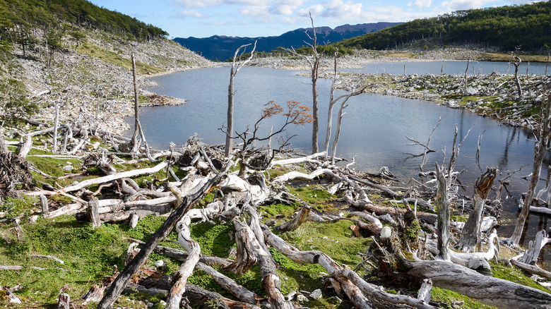
[(213, 178), (211, 178), (205, 185), (203, 185), (201, 190), (194, 193), (193, 195), (187, 195), (186, 197), (184, 197), (182, 204), (180, 204), (179, 207), (174, 210), (172, 214), (170, 214), (165, 223), (163, 223), (158, 231), (156, 231), (155, 234), (153, 234), (149, 238), (149, 241), (143, 246), (136, 257), (134, 257), (134, 259), (131, 260), (131, 262), (126, 265), (126, 267), (124, 267), (117, 279), (115, 279), (111, 286), (109, 286), (109, 290), (107, 291), (107, 293), (105, 293), (102, 301), (100, 301), (100, 303), (97, 305), (98, 309), (112, 308), (122, 289), (124, 289), (126, 281), (128, 281), (128, 279), (130, 279), (130, 277), (132, 277), (132, 275), (136, 273), (141, 265), (143, 265), (143, 262), (147, 260), (150, 253), (153, 252), (153, 249), (155, 249), (160, 241), (165, 239), (170, 231), (172, 231), (174, 226), (176, 226), (177, 222), (182, 219), (184, 214), (186, 214), (186, 212), (188, 212), (188, 210), (191, 209), (191, 207), (193, 207), (196, 202), (199, 202), (199, 200), (204, 198), (208, 191), (211, 190), (211, 188), (215, 186), (215, 184), (218, 183), (223, 176), (225, 176), (228, 169), (230, 169), (230, 162), (227, 162), (218, 174), (213, 176)]

